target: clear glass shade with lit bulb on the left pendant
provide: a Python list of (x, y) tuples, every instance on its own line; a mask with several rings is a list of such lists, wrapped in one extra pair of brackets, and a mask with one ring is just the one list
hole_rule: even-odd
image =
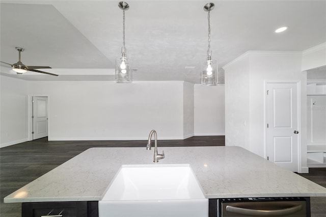
[(116, 58), (116, 82), (131, 83), (132, 69), (130, 68), (129, 60), (126, 56)]

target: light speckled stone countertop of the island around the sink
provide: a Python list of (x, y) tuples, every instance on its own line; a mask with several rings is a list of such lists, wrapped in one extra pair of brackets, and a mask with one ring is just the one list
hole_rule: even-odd
[[(206, 198), (326, 197), (326, 188), (240, 147), (158, 147), (159, 153), (163, 150), (165, 158), (156, 164), (190, 164)], [(153, 152), (91, 148), (4, 201), (99, 201), (121, 165), (155, 164)]]

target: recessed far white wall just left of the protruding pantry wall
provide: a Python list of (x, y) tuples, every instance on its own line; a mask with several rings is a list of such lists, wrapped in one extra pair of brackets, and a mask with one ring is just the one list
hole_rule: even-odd
[(195, 135), (225, 135), (224, 85), (195, 85)]

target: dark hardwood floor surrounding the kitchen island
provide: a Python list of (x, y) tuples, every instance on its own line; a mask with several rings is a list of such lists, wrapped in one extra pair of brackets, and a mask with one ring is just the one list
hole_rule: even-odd
[[(224, 136), (159, 140), (160, 147), (224, 146)], [(21, 217), (21, 204), (4, 203), (4, 197), (65, 161), (92, 147), (145, 147), (146, 141), (47, 141), (47, 138), (0, 149), (0, 216)], [(326, 187), (326, 168), (300, 174)], [(326, 216), (326, 198), (311, 198), (312, 216)]]

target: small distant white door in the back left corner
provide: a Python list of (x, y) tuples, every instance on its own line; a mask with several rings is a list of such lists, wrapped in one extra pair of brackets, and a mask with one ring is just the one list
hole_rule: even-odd
[(33, 140), (47, 137), (47, 97), (33, 96)]

